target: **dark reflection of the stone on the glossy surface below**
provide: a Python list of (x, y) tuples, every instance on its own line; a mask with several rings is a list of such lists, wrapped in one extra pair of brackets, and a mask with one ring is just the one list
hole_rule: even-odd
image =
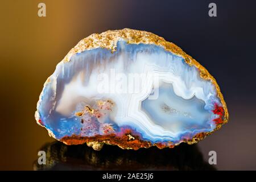
[(215, 170), (204, 161), (197, 145), (137, 151), (105, 146), (95, 151), (86, 145), (67, 146), (53, 142), (40, 150), (46, 151), (46, 165), (39, 165), (36, 160), (35, 170)]

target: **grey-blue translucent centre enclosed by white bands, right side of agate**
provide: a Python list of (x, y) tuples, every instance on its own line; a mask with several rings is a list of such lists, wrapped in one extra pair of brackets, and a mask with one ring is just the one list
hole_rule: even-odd
[[(204, 109), (205, 102), (195, 96), (189, 100), (174, 93), (172, 84), (166, 83), (159, 88), (157, 100), (142, 101), (142, 110), (155, 125), (178, 135), (211, 131), (212, 112)], [(182, 133), (180, 131), (183, 131)]]

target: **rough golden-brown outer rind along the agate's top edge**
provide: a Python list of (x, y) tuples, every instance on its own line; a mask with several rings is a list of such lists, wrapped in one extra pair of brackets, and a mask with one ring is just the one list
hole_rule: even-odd
[[(217, 97), (220, 98), (222, 107), (224, 108), (224, 116), (222, 118), (222, 123), (218, 123), (216, 128), (213, 131), (210, 131), (208, 133), (200, 133), (197, 134), (195, 137), (193, 137), (191, 140), (183, 140), (182, 142), (186, 142), (188, 144), (193, 144), (199, 142), (199, 140), (204, 139), (207, 135), (212, 134), (214, 131), (220, 129), (221, 125), (228, 122), (229, 114), (228, 114), (228, 108), (226, 106), (226, 103), (224, 101), (224, 98), (220, 92), (220, 87), (218, 86), (215, 78), (210, 75), (210, 73), (205, 69), (201, 64), (199, 64), (195, 59), (193, 59), (191, 56), (187, 55), (180, 47), (176, 46), (174, 43), (167, 42), (164, 40), (164, 38), (152, 34), (151, 32), (146, 31), (140, 31), (140, 30), (132, 30), (130, 28), (124, 28), (122, 30), (109, 30), (102, 32), (101, 34), (92, 34), (88, 36), (87, 38), (84, 38), (80, 40), (80, 42), (71, 49), (71, 51), (68, 52), (67, 56), (64, 57), (64, 59), (61, 61), (63, 63), (70, 61), (71, 57), (75, 55), (76, 53), (80, 53), (86, 50), (95, 49), (95, 48), (106, 48), (111, 50), (112, 52), (116, 51), (117, 48), (117, 42), (120, 40), (126, 40), (128, 44), (154, 44), (156, 46), (161, 46), (166, 51), (170, 51), (174, 53), (175, 55), (181, 56), (184, 58), (185, 62), (190, 66), (195, 66), (200, 71), (200, 77), (204, 80), (210, 80), (212, 84), (216, 87), (217, 90)], [(49, 78), (44, 83), (44, 86), (48, 84)], [(42, 97), (42, 93), (39, 96), (38, 105), (40, 104), (40, 100)], [(41, 125), (39, 122), (39, 113), (36, 111), (35, 118), (37, 123)], [(44, 127), (44, 126), (43, 126)], [(55, 138), (55, 136), (52, 134), (51, 131), (48, 130), (48, 133), (51, 137)], [(66, 140), (66, 141), (65, 141)], [(70, 144), (73, 142), (68, 142), (68, 140), (73, 140), (72, 137), (61, 139), (62, 142), (66, 144)], [(88, 140), (89, 141), (89, 140)], [(101, 141), (102, 143), (108, 143), (111, 144), (109, 141)], [(179, 144), (179, 143), (178, 143)], [(177, 145), (177, 144), (175, 144)], [(162, 148), (162, 147), (160, 147)]]

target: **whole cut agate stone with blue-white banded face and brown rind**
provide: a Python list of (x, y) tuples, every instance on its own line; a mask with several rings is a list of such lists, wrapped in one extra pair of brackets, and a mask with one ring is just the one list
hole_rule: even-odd
[(196, 143), (228, 122), (216, 80), (175, 44), (146, 31), (82, 39), (57, 64), (36, 121), (65, 144), (134, 149)]

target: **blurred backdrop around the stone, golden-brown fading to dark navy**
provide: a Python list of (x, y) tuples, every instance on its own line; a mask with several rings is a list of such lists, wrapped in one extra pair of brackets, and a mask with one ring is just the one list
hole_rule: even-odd
[[(45, 18), (37, 15), (39, 2)], [(210, 2), (217, 17), (208, 16)], [(1, 1), (0, 169), (33, 169), (39, 148), (53, 141), (34, 112), (56, 64), (80, 39), (127, 27), (163, 36), (208, 69), (230, 119), (197, 146), (205, 161), (217, 152), (217, 169), (255, 170), (255, 22), (255, 1)]]

